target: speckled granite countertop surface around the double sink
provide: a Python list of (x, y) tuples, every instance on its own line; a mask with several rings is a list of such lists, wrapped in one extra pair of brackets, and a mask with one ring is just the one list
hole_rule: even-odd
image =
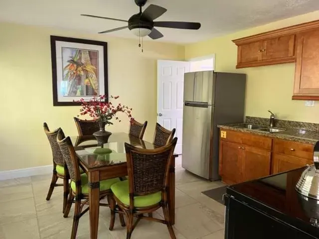
[(317, 141), (319, 141), (319, 131), (311, 131), (308, 129), (288, 128), (288, 127), (286, 128), (274, 127), (274, 128), (285, 129), (285, 131), (269, 133), (269, 132), (260, 131), (257, 129), (248, 129), (248, 128), (242, 128), (238, 126), (236, 127), (236, 125), (239, 125), (239, 124), (243, 124), (243, 123), (219, 124), (217, 126), (219, 128), (231, 129), (231, 130), (240, 131), (240, 132), (254, 133), (254, 134), (263, 135), (263, 136), (272, 137), (272, 138), (281, 138), (281, 139), (286, 139), (286, 140), (295, 141), (299, 143), (315, 144)]

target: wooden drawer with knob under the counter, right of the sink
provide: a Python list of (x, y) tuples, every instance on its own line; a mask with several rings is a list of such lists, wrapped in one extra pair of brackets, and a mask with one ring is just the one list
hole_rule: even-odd
[(314, 145), (274, 139), (274, 152), (313, 160)]

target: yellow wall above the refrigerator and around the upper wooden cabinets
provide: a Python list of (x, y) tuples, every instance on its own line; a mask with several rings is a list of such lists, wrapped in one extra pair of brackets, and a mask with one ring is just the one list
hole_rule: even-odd
[(305, 107), (305, 101), (291, 100), (295, 63), (236, 70), (237, 46), (231, 41), (317, 19), (319, 11), (189, 44), (185, 47), (185, 58), (215, 53), (215, 71), (246, 73), (246, 116), (269, 117), (267, 110), (271, 110), (279, 119), (319, 123), (319, 102), (315, 107)]

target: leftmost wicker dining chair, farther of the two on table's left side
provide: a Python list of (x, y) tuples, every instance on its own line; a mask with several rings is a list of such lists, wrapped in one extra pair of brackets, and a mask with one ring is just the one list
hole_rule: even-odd
[[(63, 213), (67, 203), (68, 197), (68, 179), (66, 178), (65, 170), (64, 170), (64, 159), (60, 150), (60, 147), (56, 141), (56, 136), (60, 128), (55, 129), (54, 131), (50, 131), (46, 122), (43, 123), (44, 132), (49, 140), (52, 157), (53, 157), (53, 173), (52, 180), (50, 184), (50, 188), (48, 194), (46, 196), (46, 200), (50, 200), (51, 195), (55, 187), (64, 186), (63, 193)], [(63, 179), (63, 184), (56, 183), (59, 178)]]

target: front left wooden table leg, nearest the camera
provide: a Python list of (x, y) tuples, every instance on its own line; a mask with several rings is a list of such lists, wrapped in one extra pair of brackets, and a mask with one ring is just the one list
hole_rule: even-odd
[(91, 239), (98, 238), (99, 210), (100, 210), (100, 175), (99, 171), (88, 173), (89, 177), (89, 205), (90, 205), (90, 235)]

